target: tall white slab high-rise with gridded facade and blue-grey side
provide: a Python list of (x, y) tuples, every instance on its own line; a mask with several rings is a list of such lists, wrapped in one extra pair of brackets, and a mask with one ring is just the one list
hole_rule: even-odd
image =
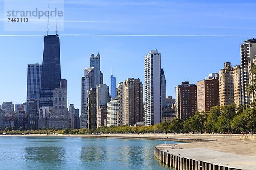
[(145, 125), (161, 123), (161, 54), (151, 50), (144, 59)]

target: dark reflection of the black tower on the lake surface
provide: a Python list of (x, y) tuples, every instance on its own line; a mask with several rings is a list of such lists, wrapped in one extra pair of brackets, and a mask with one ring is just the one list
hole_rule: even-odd
[(62, 162), (65, 155), (64, 147), (26, 147), (25, 160), (42, 163)]

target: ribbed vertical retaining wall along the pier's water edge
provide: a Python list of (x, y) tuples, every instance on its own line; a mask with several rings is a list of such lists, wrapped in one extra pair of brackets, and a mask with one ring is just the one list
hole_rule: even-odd
[(227, 167), (218, 164), (212, 164), (196, 159), (189, 159), (180, 155), (169, 153), (168, 150), (160, 149), (155, 146), (154, 155), (163, 164), (177, 170), (240, 170), (233, 167)]

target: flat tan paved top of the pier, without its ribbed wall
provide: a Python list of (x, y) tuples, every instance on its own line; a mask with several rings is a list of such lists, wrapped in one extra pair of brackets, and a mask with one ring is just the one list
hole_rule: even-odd
[(234, 136), (211, 142), (163, 144), (158, 148), (190, 159), (256, 170), (256, 140), (239, 140)]

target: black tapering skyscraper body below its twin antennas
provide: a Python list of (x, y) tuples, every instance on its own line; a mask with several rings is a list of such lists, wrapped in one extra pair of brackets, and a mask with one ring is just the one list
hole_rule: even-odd
[(60, 81), (60, 40), (58, 35), (47, 35), (44, 36), (39, 108), (42, 106), (53, 108), (53, 91), (60, 87)]

